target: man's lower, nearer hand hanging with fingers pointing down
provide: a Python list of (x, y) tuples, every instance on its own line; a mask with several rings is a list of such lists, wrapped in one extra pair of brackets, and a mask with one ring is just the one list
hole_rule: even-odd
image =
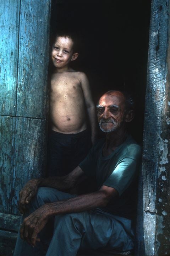
[(28, 244), (35, 246), (36, 241), (40, 241), (40, 239), (37, 238), (38, 233), (44, 228), (48, 221), (48, 213), (49, 205), (44, 204), (25, 218), (20, 229), (21, 239), (26, 240)]

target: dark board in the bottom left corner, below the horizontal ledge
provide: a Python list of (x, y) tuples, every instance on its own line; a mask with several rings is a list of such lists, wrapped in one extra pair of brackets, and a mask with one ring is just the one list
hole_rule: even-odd
[(0, 256), (12, 256), (17, 233), (0, 230)]

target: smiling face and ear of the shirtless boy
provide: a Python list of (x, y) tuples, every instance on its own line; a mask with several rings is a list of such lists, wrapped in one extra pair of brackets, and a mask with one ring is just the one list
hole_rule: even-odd
[(75, 60), (76, 58), (75, 54), (73, 54), (72, 39), (69, 37), (57, 37), (53, 44), (51, 58), (56, 68), (67, 67), (71, 60)]

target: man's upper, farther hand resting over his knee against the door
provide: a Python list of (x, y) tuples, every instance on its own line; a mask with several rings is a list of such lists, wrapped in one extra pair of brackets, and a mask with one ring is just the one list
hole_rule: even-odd
[(35, 196), (38, 190), (40, 179), (33, 179), (26, 183), (23, 189), (20, 191), (20, 198), (18, 202), (19, 210), (21, 214), (25, 214), (27, 211), (26, 205), (29, 204), (31, 199)]

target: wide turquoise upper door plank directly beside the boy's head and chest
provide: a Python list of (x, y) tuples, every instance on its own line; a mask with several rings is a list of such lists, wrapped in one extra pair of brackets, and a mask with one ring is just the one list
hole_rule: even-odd
[(50, 0), (21, 1), (17, 116), (45, 118)]

